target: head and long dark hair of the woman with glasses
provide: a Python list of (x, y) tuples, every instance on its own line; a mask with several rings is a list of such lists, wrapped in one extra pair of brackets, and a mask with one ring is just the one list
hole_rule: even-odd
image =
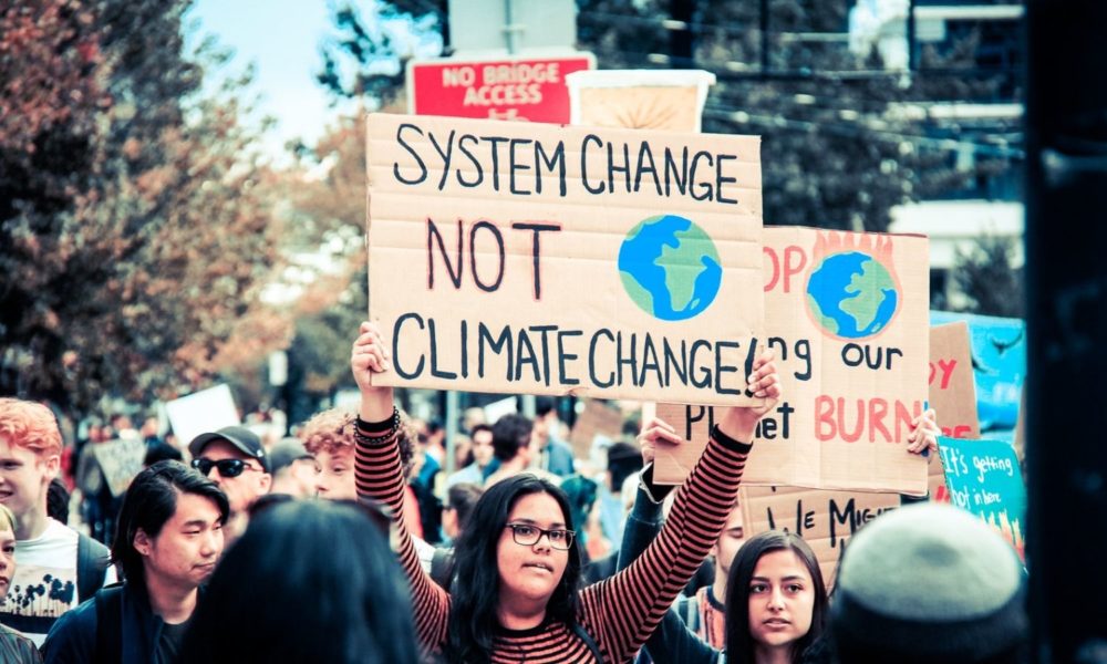
[(565, 492), (523, 473), (477, 501), (456, 548), (449, 661), (483, 661), (492, 652), (501, 605), (517, 613), (577, 622), (581, 557)]

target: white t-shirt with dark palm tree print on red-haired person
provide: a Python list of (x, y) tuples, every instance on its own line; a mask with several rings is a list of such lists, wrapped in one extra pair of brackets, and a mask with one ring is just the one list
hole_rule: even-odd
[[(76, 531), (54, 519), (38, 538), (17, 541), (15, 575), (0, 602), (0, 623), (41, 647), (54, 621), (80, 603), (76, 547)], [(115, 580), (115, 568), (108, 566), (104, 584)]]

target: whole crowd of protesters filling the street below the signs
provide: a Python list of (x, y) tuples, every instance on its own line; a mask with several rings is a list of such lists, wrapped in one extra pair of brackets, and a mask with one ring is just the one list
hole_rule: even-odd
[[(545, 402), (469, 423), (446, 476), (444, 427), (372, 380), (385, 341), (363, 323), (352, 345), (356, 412), (271, 444), (245, 426), (151, 440), (118, 497), (92, 455), (63, 461), (49, 408), (0, 398), (0, 661), (1024, 661), (1025, 570), (955, 508), (880, 516), (834, 588), (801, 537), (746, 536), (736, 496), (780, 398), (772, 353), (748, 378), (759, 405), (718, 409), (670, 487), (653, 481), (656, 448), (682, 443), (669, 423), (581, 473)], [(935, 449), (935, 414), (914, 426), (904, 454)], [(64, 467), (87, 532), (60, 511)]]

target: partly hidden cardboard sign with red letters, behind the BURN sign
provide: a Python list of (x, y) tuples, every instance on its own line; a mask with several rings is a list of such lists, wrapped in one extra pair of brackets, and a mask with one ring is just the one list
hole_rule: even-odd
[[(930, 406), (938, 413), (943, 435), (980, 438), (969, 324), (964, 321), (930, 329)], [(930, 456), (928, 484), (931, 500), (950, 501), (941, 455)]]

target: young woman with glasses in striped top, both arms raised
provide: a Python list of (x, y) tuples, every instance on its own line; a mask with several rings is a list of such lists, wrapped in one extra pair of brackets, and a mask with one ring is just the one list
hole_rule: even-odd
[[(400, 513), (404, 478), (395, 446), (387, 345), (362, 323), (351, 367), (361, 388), (358, 491)], [(523, 474), (477, 501), (456, 548), (453, 593), (418, 566), (397, 523), (400, 561), (412, 587), (415, 629), (427, 653), (448, 662), (624, 662), (634, 656), (707, 554), (734, 501), (754, 429), (780, 396), (769, 353), (754, 363), (757, 407), (724, 408), (706, 450), (677, 490), (669, 520), (634, 564), (578, 589), (580, 551), (569, 504), (552, 484)]]

